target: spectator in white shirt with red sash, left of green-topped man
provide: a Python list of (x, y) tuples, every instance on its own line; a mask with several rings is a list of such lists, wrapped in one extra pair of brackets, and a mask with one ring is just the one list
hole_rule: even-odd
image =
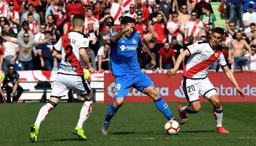
[(197, 19), (196, 11), (191, 12), (191, 19), (185, 23), (185, 38), (193, 35), (196, 38), (197, 33), (204, 28), (203, 22)]

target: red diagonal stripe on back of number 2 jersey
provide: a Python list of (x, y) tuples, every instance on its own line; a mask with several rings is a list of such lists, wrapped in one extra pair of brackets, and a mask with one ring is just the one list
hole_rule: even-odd
[[(69, 33), (66, 33), (65, 35), (63, 35), (61, 37), (61, 41), (62, 41), (62, 46), (64, 48), (64, 51), (65, 51), (65, 54), (68, 54), (71, 50), (70, 48), (68, 48), (68, 50), (66, 50), (66, 47), (68, 45), (71, 45), (71, 43), (69, 41), (67, 41), (66, 43), (64, 43), (64, 40), (66, 39), (69, 39), (68, 37), (68, 34)], [(76, 48), (73, 48), (73, 49), (76, 49)], [(70, 62), (70, 65), (71, 66), (76, 66), (77, 67), (77, 70), (75, 71), (77, 75), (82, 75), (83, 76), (83, 69), (82, 67), (80, 66), (80, 62), (78, 61), (78, 59), (76, 58), (74, 52), (72, 51), (72, 54), (68, 57), (68, 60), (72, 60), (72, 62)]]

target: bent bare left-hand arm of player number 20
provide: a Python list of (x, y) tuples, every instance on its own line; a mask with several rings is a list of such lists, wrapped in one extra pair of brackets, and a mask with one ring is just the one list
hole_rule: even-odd
[(173, 78), (173, 76), (176, 74), (176, 72), (177, 72), (177, 70), (178, 70), (178, 68), (179, 68), (179, 66), (180, 66), (180, 64), (181, 64), (181, 62), (183, 61), (183, 59), (184, 59), (186, 56), (189, 56), (189, 55), (190, 55), (189, 51), (188, 51), (188, 50), (185, 50), (185, 51), (183, 51), (183, 52), (178, 56), (174, 68), (172, 68), (172, 69), (170, 69), (169, 71), (167, 71), (167, 76), (168, 76), (169, 78), (170, 78), (170, 77)]

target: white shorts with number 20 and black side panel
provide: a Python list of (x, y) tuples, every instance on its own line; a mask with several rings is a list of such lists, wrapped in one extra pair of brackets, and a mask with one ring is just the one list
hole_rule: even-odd
[(217, 95), (208, 77), (204, 79), (189, 79), (183, 76), (181, 86), (189, 103), (199, 100), (199, 93), (207, 100), (212, 95)]

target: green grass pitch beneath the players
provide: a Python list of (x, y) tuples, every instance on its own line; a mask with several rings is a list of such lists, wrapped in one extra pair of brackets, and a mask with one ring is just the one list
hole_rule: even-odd
[[(178, 117), (179, 104), (168, 103), (175, 117)], [(94, 103), (83, 126), (85, 141), (72, 134), (83, 103), (59, 103), (41, 123), (38, 142), (30, 143), (29, 128), (43, 105), (1, 104), (0, 146), (256, 145), (256, 103), (222, 103), (223, 126), (230, 134), (216, 133), (212, 106), (202, 103), (201, 111), (188, 115), (188, 123), (181, 126), (178, 135), (165, 133), (163, 127), (167, 120), (154, 103), (125, 103), (112, 119), (106, 136), (101, 134), (101, 125), (109, 103)]]

